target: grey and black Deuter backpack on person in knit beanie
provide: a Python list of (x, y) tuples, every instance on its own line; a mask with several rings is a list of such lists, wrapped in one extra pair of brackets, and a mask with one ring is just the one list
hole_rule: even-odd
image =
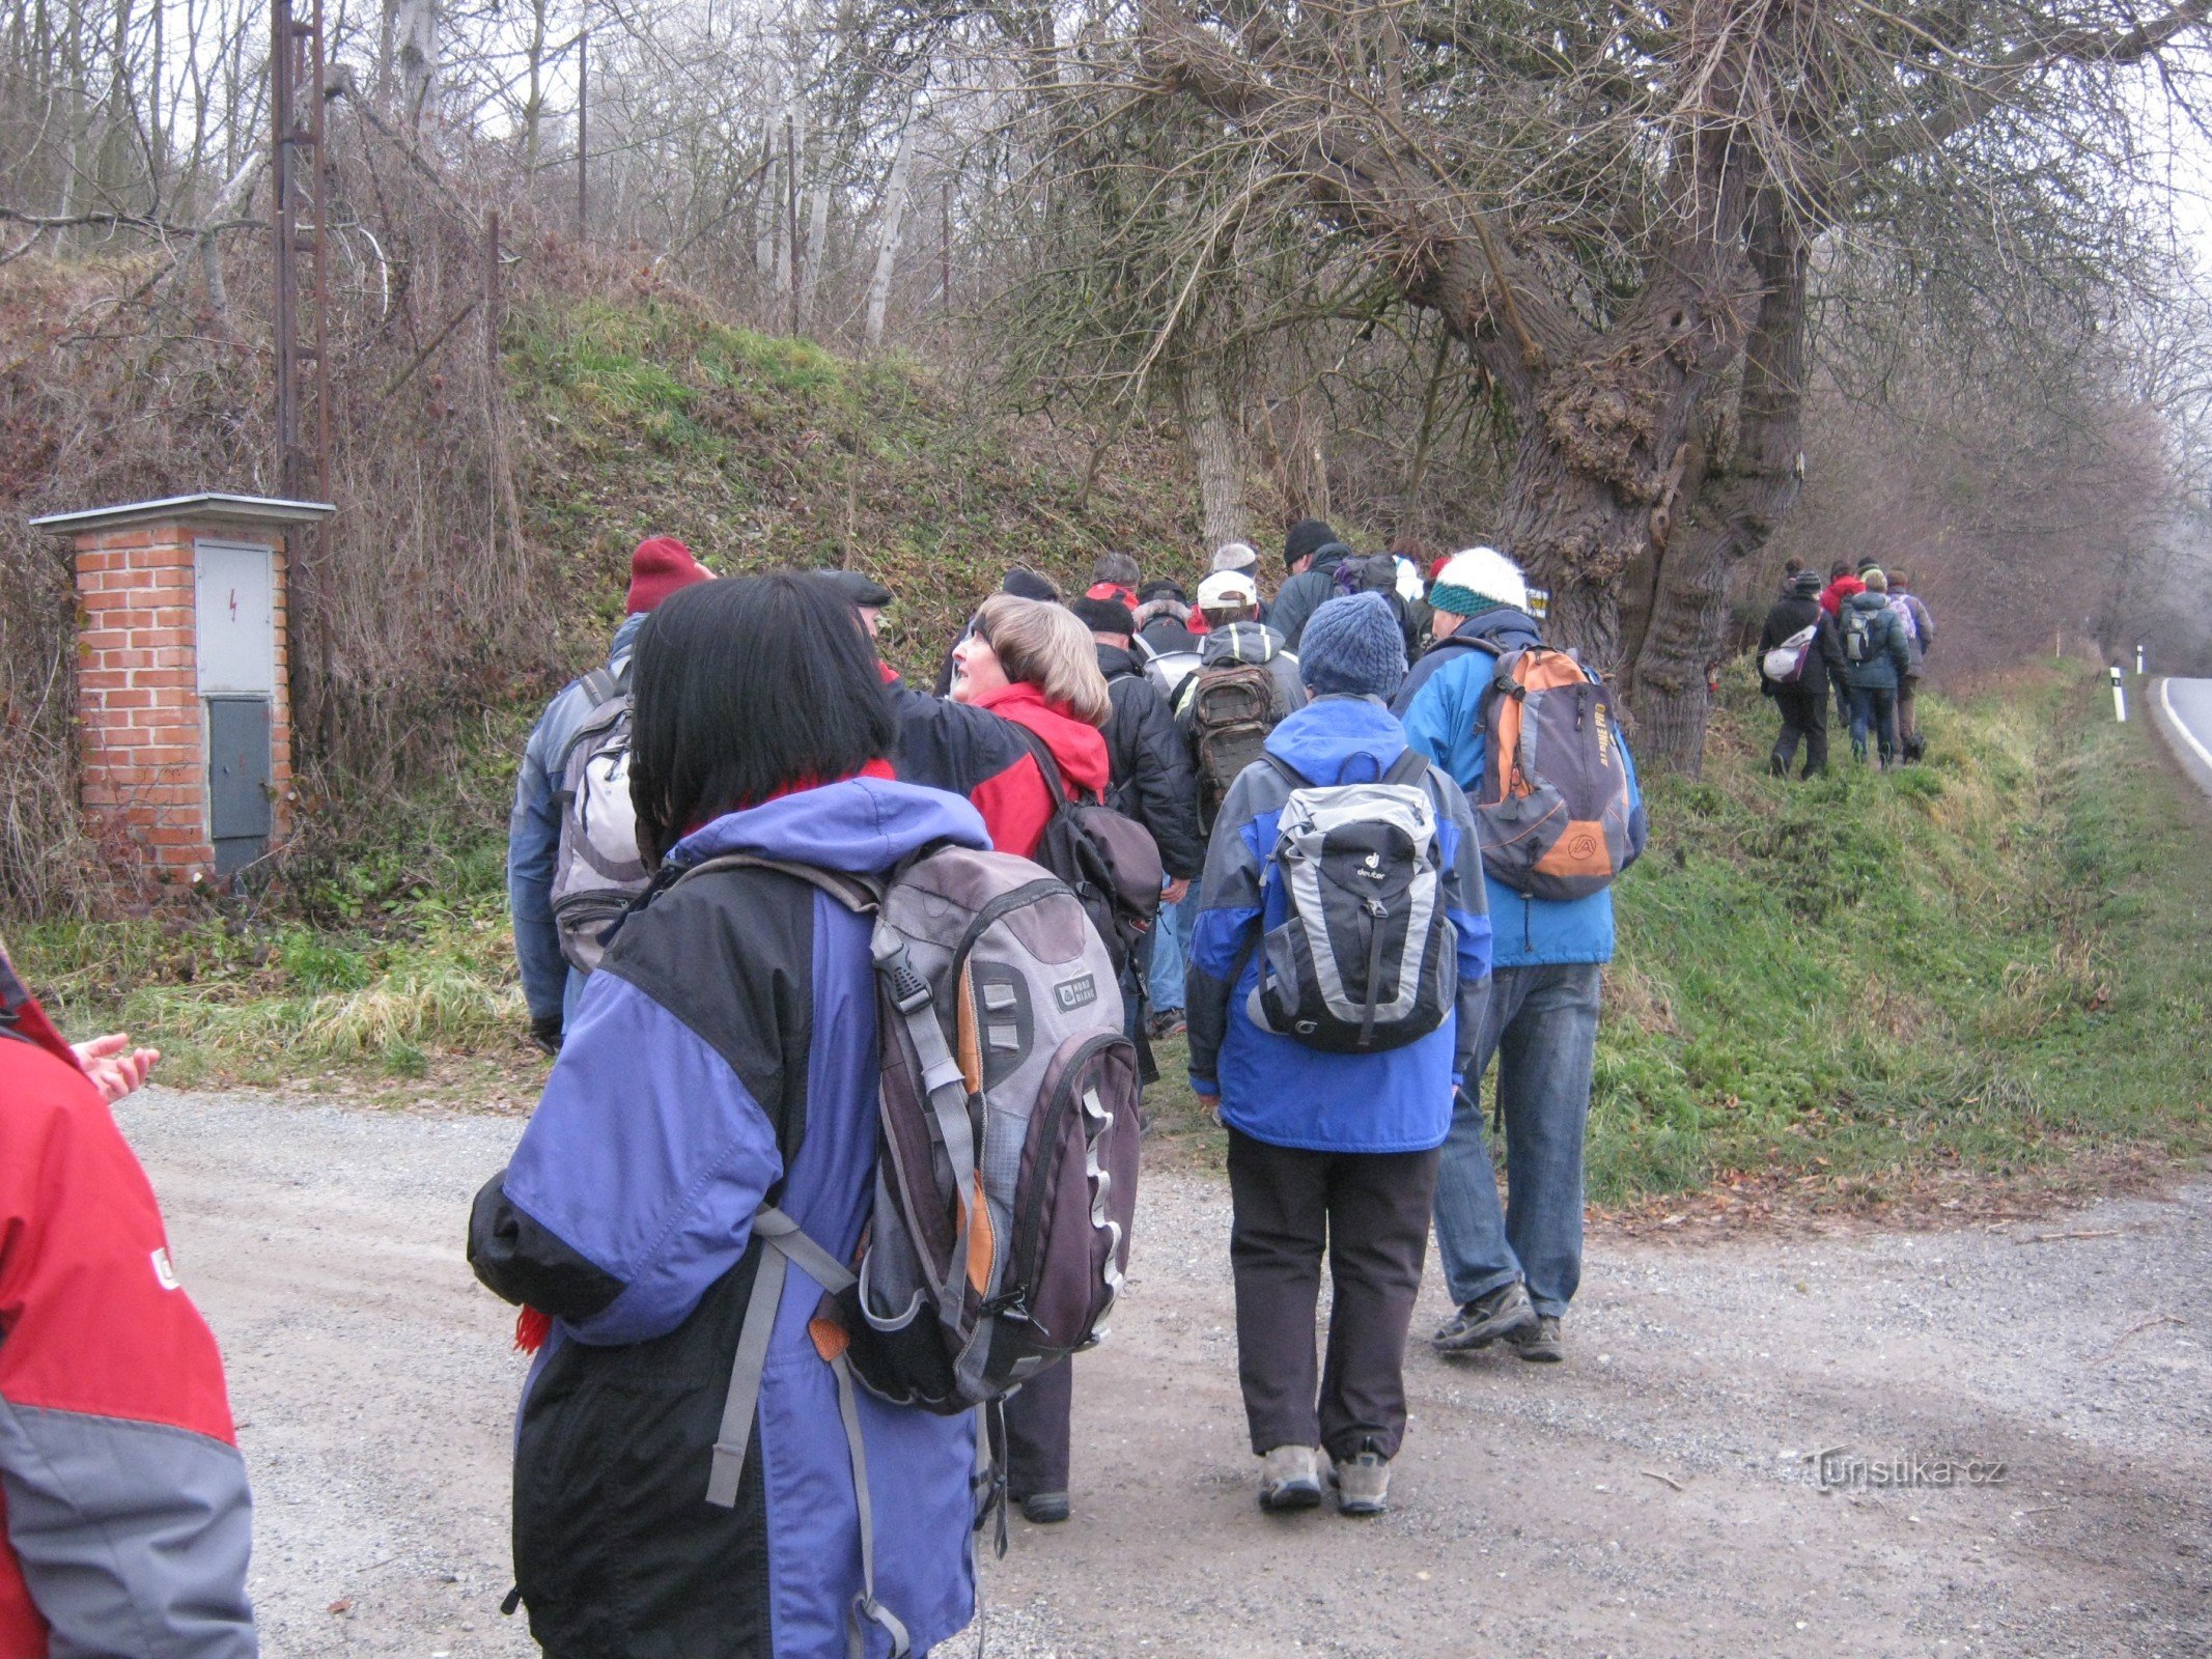
[[(1407, 750), (1376, 783), (1329, 787), (1265, 759), (1290, 783), (1263, 872), (1285, 916), (1254, 947), (1245, 1013), (1261, 1031), (1329, 1053), (1427, 1037), (1460, 989), (1427, 757)], [(1241, 975), (1239, 964), (1232, 984)]]

